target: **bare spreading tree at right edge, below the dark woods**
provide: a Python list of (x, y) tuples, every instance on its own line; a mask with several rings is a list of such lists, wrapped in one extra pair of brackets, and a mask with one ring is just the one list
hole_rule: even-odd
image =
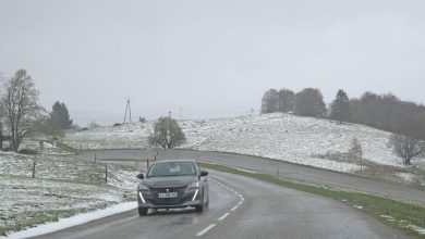
[(408, 121), (402, 124), (398, 133), (390, 136), (388, 146), (396, 155), (403, 159), (405, 165), (411, 160), (425, 152), (425, 122), (420, 120)]

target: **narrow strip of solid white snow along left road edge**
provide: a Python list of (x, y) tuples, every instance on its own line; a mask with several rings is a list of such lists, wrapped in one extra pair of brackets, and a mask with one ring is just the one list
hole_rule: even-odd
[[(120, 203), (113, 206), (110, 206), (108, 209), (104, 210), (97, 210), (95, 212), (89, 212), (89, 213), (84, 213), (84, 214), (78, 214), (75, 216), (71, 216), (68, 218), (61, 218), (56, 223), (48, 223), (48, 224), (42, 224), (38, 225), (36, 227), (17, 231), (17, 232), (12, 232), (8, 235), (8, 238), (28, 238), (28, 237), (36, 237), (45, 234), (50, 234), (53, 231), (62, 230), (68, 227), (73, 227), (82, 224), (86, 224), (88, 222), (104, 218), (107, 216), (111, 216), (114, 214), (127, 212), (131, 210), (134, 210), (137, 207), (137, 202), (124, 202)], [(0, 237), (2, 238), (2, 237)]]

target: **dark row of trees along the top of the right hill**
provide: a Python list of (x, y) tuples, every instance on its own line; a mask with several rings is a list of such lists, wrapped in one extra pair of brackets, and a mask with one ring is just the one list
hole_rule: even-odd
[(319, 89), (305, 88), (298, 93), (284, 88), (269, 89), (262, 99), (262, 113), (274, 112), (350, 122), (397, 134), (403, 134), (410, 125), (422, 125), (414, 134), (425, 139), (425, 106), (402, 101), (392, 93), (365, 92), (350, 99), (341, 89), (327, 108)]

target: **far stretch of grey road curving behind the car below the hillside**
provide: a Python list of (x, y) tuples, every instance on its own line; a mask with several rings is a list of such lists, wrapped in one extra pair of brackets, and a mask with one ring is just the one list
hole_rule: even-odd
[[(78, 158), (90, 161), (95, 158), (97, 160), (146, 160), (151, 158), (151, 155), (148, 155), (148, 153), (144, 150), (101, 150), (83, 151), (78, 154)], [(287, 162), (272, 161), (257, 156), (193, 150), (161, 150), (158, 152), (157, 159), (195, 159), (199, 161), (215, 162), (244, 169), (279, 175), (280, 177), (301, 181), (331, 187), (342, 187), (355, 191), (362, 191), (425, 205), (424, 190), (417, 190), (387, 181), (373, 180), (355, 175), (341, 174), (337, 172), (291, 164)]]

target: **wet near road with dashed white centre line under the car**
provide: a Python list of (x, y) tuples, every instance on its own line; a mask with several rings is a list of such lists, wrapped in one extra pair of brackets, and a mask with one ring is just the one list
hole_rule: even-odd
[(360, 210), (307, 192), (210, 171), (210, 207), (136, 210), (39, 238), (405, 238)]

